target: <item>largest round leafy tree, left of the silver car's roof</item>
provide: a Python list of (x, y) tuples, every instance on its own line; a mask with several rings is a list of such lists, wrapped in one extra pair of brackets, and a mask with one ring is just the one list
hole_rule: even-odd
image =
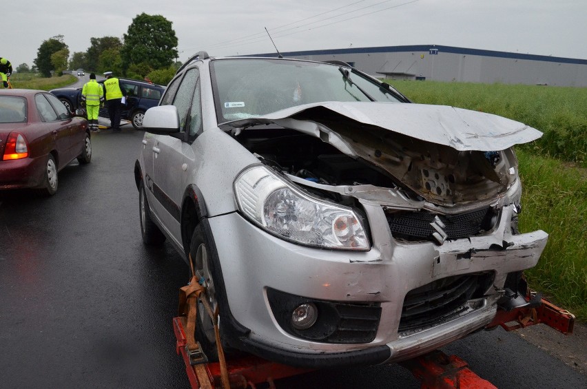
[(124, 34), (121, 50), (124, 74), (133, 64), (148, 63), (152, 69), (169, 67), (177, 58), (177, 42), (172, 22), (165, 17), (145, 12), (138, 15)]

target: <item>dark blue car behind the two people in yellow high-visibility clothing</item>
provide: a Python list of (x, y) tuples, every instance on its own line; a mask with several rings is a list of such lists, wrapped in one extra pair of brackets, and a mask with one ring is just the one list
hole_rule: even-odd
[[(129, 78), (119, 78), (119, 81), (121, 90), (126, 94), (126, 104), (121, 118), (130, 120), (134, 128), (142, 129), (145, 111), (159, 103), (159, 98), (161, 98), (165, 87)], [(104, 80), (98, 82), (103, 84)], [(57, 96), (70, 112), (75, 112), (76, 109), (81, 108), (81, 89), (59, 88), (49, 92)], [(101, 109), (99, 115), (105, 118), (108, 117), (106, 109)]]

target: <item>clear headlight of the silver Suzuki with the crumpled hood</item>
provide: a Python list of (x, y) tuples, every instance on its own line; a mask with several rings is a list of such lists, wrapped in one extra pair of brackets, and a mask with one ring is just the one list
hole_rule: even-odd
[(369, 250), (353, 209), (310, 196), (267, 167), (243, 171), (234, 192), (240, 211), (280, 238), (325, 249)]

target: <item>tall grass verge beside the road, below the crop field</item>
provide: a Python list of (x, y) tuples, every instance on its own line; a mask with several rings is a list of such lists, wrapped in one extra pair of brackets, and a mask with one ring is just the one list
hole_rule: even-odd
[(587, 169), (517, 150), (521, 232), (549, 233), (528, 283), (587, 322)]

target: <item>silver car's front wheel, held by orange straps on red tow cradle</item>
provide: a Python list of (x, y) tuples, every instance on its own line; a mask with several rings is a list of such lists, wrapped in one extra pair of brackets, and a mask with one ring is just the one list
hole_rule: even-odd
[[(202, 227), (200, 224), (194, 229), (192, 241), (189, 244), (189, 255), (194, 261), (194, 268), (199, 277), (203, 277), (204, 286), (206, 287), (206, 298), (212, 312), (216, 309), (218, 302), (216, 302), (216, 290), (214, 288), (214, 280), (212, 278), (212, 267), (214, 266), (212, 257), (209, 255), (209, 244), (205, 239)], [(208, 315), (204, 305), (198, 300), (198, 315), (196, 322), (196, 339), (200, 342), (200, 346), (208, 357), (209, 361), (218, 361), (218, 349), (216, 348), (216, 336), (214, 335), (214, 324), (212, 317)], [(225, 350), (225, 354), (226, 350)]]

